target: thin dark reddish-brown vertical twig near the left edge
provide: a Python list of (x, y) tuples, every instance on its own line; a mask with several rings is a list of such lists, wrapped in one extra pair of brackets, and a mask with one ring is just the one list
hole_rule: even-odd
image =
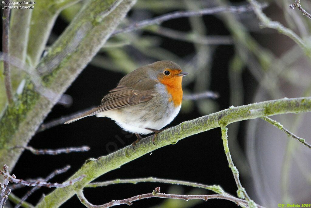
[[(9, 1), (10, 0), (6, 0), (6, 3)], [(9, 54), (9, 25), (11, 9), (8, 6), (6, 7), (7, 8), (4, 9), (2, 17), (2, 51), (3, 53)], [(13, 102), (13, 96), (9, 66), (9, 62), (3, 61), (4, 85), (7, 93), (7, 100), (11, 104)]]

